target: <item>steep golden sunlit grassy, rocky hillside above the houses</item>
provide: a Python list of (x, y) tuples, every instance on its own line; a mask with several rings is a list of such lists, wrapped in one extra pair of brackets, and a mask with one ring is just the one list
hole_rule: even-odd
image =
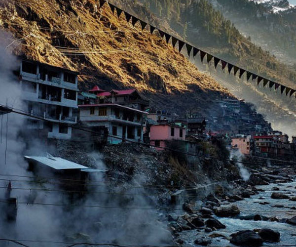
[(0, 27), (17, 40), (9, 48), (79, 71), (81, 89), (94, 84), (135, 87), (153, 105), (182, 112), (198, 103), (203, 113), (217, 96), (229, 95), (172, 46), (137, 25), (127, 24), (124, 14), (118, 19), (108, 4), (99, 9), (95, 0), (0, 0)]

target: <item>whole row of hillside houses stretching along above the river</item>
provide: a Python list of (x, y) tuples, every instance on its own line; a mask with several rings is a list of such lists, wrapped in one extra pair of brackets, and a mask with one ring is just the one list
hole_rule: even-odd
[[(78, 73), (60, 67), (21, 59), (18, 74), (23, 100), (32, 115), (26, 125), (39, 137), (75, 139), (79, 138), (76, 129), (87, 127), (110, 144), (146, 142), (162, 150), (175, 140), (184, 144), (187, 151), (196, 152), (196, 139), (222, 134), (231, 140), (232, 148), (245, 155), (294, 154), (296, 138), (289, 143), (287, 135), (272, 131), (267, 122), (259, 123), (256, 110), (240, 100), (216, 101), (223, 109), (223, 121), (200, 118), (194, 113), (179, 119), (165, 111), (151, 112), (149, 102), (136, 89), (106, 91), (96, 85), (80, 92)], [(221, 131), (213, 132), (209, 126), (219, 126), (217, 122), (223, 123)]]

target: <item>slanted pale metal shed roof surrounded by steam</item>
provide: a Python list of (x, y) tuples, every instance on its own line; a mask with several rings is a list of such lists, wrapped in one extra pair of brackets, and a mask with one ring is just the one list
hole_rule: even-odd
[(88, 169), (84, 165), (79, 165), (71, 161), (64, 160), (59, 157), (42, 157), (42, 156), (24, 156), (24, 158), (32, 161), (36, 161), (42, 165), (47, 165), (56, 170), (68, 170), (68, 169)]

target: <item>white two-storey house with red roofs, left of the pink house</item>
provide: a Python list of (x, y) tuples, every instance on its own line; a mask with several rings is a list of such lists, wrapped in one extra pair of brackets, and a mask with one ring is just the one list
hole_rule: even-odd
[[(82, 93), (85, 100), (79, 107), (79, 120), (100, 132), (108, 131), (108, 142), (118, 144), (124, 140), (143, 142), (143, 127), (148, 102), (135, 89), (104, 91), (95, 86)], [(91, 95), (95, 95), (91, 96)]]

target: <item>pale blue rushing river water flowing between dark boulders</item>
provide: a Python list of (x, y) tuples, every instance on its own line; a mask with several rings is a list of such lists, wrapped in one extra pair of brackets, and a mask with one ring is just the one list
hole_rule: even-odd
[[(272, 191), (273, 187), (278, 187), (280, 191)], [(290, 207), (296, 206), (296, 202), (281, 199), (275, 200), (271, 199), (271, 194), (273, 192), (279, 192), (290, 197), (296, 196), (296, 180), (292, 183), (282, 183), (282, 184), (270, 184), (257, 186), (258, 189), (264, 190), (264, 192), (259, 192), (258, 195), (251, 198), (245, 199), (244, 201), (239, 201), (234, 203), (237, 205), (241, 211), (237, 218), (219, 218), (226, 229), (217, 230), (211, 232), (211, 234), (221, 234), (228, 238), (232, 233), (240, 230), (254, 230), (261, 228), (269, 228), (281, 233), (281, 241), (279, 243), (264, 243), (265, 246), (283, 246), (283, 245), (295, 245), (296, 246), (296, 226), (289, 225), (287, 223), (271, 222), (271, 221), (254, 221), (254, 220), (244, 220), (242, 218), (249, 217), (253, 218), (254, 215), (259, 214), (261, 216), (267, 217), (277, 217), (278, 219), (292, 218), (296, 216), (296, 210)], [(259, 202), (267, 202), (267, 205), (260, 205)], [(284, 205), (284, 207), (272, 207), (275, 205)], [(203, 231), (188, 231), (182, 233), (182, 239), (184, 239), (188, 244), (193, 244), (194, 240), (203, 234)], [(226, 247), (233, 246), (229, 241), (223, 237), (213, 238), (212, 247)]]

